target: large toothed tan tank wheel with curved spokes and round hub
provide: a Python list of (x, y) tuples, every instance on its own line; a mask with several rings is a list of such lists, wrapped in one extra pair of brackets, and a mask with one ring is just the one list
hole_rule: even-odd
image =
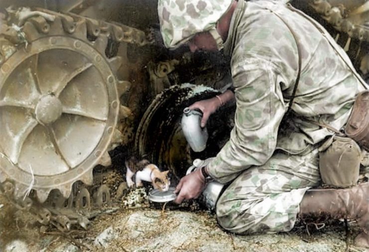
[(91, 185), (93, 168), (109, 164), (122, 59), (107, 57), (109, 31), (86, 19), (29, 16), (15, 36), (10, 18), (0, 34), (0, 183), (14, 182), (16, 199), (32, 188), (44, 202), (53, 189), (68, 198), (74, 182)]

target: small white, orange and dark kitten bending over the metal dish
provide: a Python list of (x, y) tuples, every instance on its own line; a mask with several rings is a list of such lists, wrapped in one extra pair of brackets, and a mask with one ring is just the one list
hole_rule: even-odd
[[(169, 171), (161, 172), (159, 168), (151, 164), (148, 160), (137, 160), (134, 157), (125, 161), (125, 167), (127, 169), (125, 174), (125, 180), (128, 187), (132, 187), (134, 184), (136, 187), (143, 186), (142, 181), (151, 182), (152, 186), (159, 191), (168, 191), (170, 181), (168, 178)], [(132, 181), (133, 175), (135, 177), (135, 183)]]

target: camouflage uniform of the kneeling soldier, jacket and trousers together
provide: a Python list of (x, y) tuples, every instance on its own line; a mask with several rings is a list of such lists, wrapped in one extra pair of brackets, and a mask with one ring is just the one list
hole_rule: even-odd
[[(293, 113), (283, 121), (297, 77), (298, 47), (280, 18), (297, 35), (302, 55)], [(342, 48), (312, 22), (276, 1), (237, 4), (224, 43), (231, 56), (235, 127), (208, 164), (217, 181), (233, 180), (216, 208), (228, 231), (293, 228), (306, 190), (320, 182), (317, 146), (333, 134), (309, 121), (341, 129), (365, 89)]]

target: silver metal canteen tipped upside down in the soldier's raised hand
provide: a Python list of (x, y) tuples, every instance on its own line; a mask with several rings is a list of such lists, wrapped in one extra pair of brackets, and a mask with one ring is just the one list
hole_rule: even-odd
[(208, 130), (206, 127), (201, 128), (202, 113), (197, 110), (185, 108), (183, 110), (181, 125), (183, 134), (195, 152), (201, 152), (206, 148), (206, 141), (208, 141)]

